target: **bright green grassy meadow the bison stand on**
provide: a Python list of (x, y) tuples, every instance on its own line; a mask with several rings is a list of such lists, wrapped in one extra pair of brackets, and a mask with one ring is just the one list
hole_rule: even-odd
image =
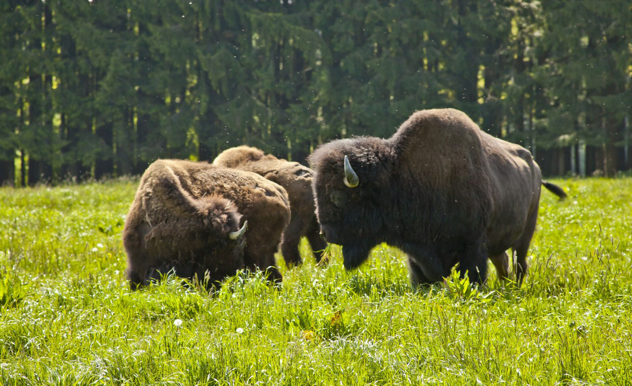
[[(131, 292), (136, 181), (0, 188), (2, 385), (632, 385), (632, 178), (543, 190), (518, 289), (448, 278), (413, 292), (381, 246), (346, 272), (288, 269)], [(251, 224), (257, 226), (257, 224)]]

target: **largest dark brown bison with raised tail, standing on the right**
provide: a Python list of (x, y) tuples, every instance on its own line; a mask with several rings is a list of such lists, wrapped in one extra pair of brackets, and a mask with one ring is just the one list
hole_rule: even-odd
[(389, 139), (336, 140), (310, 156), (325, 238), (343, 246), (344, 267), (378, 243), (408, 254), (413, 286), (449, 275), (459, 263), (472, 282), (487, 278), (487, 256), (507, 277), (526, 274), (540, 184), (528, 150), (488, 135), (454, 109), (415, 112)]

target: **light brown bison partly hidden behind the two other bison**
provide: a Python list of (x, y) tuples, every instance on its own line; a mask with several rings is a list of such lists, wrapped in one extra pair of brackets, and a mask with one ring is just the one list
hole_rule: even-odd
[(307, 236), (317, 262), (327, 243), (319, 236), (319, 224), (314, 213), (312, 193), (312, 169), (298, 162), (278, 159), (274, 155), (265, 155), (255, 147), (238, 146), (224, 150), (213, 161), (214, 165), (234, 167), (255, 172), (283, 186), (288, 191), (291, 217), (283, 232), (281, 252), (288, 265), (301, 263), (298, 243), (301, 236)]

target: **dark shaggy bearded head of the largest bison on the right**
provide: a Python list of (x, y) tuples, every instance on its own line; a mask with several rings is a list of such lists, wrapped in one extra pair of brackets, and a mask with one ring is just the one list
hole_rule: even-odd
[(381, 198), (389, 183), (388, 150), (379, 138), (354, 138), (327, 143), (310, 155), (321, 231), (329, 243), (343, 246), (347, 269), (386, 241)]

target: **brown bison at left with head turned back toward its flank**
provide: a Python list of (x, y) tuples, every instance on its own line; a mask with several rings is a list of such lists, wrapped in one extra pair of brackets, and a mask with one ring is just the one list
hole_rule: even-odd
[(169, 272), (199, 279), (208, 272), (215, 285), (241, 268), (267, 269), (280, 282), (274, 253), (288, 221), (288, 194), (258, 174), (157, 160), (140, 180), (123, 229), (131, 289)]

